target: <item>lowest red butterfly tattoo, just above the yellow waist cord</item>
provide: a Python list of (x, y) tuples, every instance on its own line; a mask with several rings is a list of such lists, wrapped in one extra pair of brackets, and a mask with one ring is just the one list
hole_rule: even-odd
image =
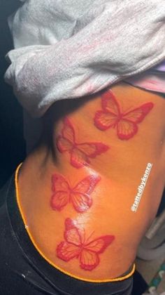
[(80, 268), (93, 270), (99, 265), (99, 254), (106, 250), (115, 237), (114, 235), (103, 235), (91, 240), (91, 236), (85, 239), (85, 231), (82, 233), (70, 218), (66, 218), (65, 241), (57, 246), (57, 257), (66, 262), (78, 258)]

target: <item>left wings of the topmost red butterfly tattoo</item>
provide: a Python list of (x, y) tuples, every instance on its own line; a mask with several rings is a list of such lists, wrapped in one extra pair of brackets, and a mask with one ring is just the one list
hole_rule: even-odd
[(103, 110), (96, 112), (94, 124), (100, 130), (106, 130), (117, 124), (120, 117), (120, 106), (112, 91), (106, 91), (101, 96)]

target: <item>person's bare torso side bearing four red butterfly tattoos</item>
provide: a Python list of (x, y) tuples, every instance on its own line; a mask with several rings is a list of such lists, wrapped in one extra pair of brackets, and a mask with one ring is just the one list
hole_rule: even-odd
[[(129, 269), (164, 189), (164, 98), (126, 84), (111, 91), (120, 106), (114, 110), (114, 126), (105, 129), (102, 117), (108, 111), (101, 96), (86, 100), (57, 120), (56, 156), (43, 145), (22, 164), (18, 181), (22, 213), (38, 249), (64, 272), (87, 280), (108, 280)], [(129, 110), (145, 104), (150, 110), (134, 122), (138, 129), (132, 135), (127, 124), (119, 127), (119, 121), (130, 119)], [(83, 206), (76, 194), (84, 198)], [(64, 243), (66, 249), (72, 245), (71, 228), (79, 232), (80, 251), (66, 261), (62, 250)], [(99, 237), (108, 241), (101, 253), (92, 244)], [(74, 248), (75, 235), (72, 240)], [(80, 261), (83, 249), (99, 257), (92, 270)]]

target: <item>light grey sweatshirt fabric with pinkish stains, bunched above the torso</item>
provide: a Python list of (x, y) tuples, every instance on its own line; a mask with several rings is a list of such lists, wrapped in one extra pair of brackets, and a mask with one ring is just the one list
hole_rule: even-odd
[(9, 19), (5, 79), (34, 117), (165, 60), (164, 0), (23, 2)]

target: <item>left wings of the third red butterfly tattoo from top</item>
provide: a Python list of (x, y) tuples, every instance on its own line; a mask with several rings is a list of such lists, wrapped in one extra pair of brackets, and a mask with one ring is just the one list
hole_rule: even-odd
[(50, 205), (53, 210), (61, 211), (69, 202), (69, 183), (63, 176), (53, 174), (52, 192)]

